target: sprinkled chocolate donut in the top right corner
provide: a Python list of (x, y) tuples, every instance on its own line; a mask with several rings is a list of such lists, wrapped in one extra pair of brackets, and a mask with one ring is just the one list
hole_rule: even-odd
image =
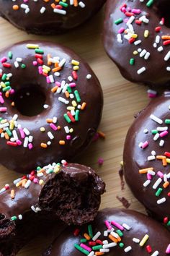
[(169, 0), (108, 0), (104, 48), (127, 80), (170, 82)]

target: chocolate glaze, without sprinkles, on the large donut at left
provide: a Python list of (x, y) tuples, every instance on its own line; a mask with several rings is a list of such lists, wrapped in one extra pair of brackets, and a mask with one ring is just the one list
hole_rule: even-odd
[[(71, 60), (76, 59), (77, 61), (80, 61), (80, 67), (77, 72), (78, 79), (73, 80), (73, 82), (76, 82), (76, 89), (72, 88), (72, 92), (78, 90), (81, 97), (81, 102), (77, 104), (86, 102), (84, 111), (80, 110), (79, 121), (68, 124), (64, 119), (63, 114), (67, 113), (67, 106), (72, 106), (71, 101), (76, 101), (76, 98), (74, 97), (72, 100), (69, 98), (67, 99), (64, 93), (51, 93), (50, 90), (55, 86), (55, 83), (48, 84), (46, 82), (46, 77), (39, 74), (37, 67), (33, 66), (32, 61), (36, 60), (34, 56), (35, 51), (28, 49), (26, 47), (27, 43), (37, 43), (39, 47), (43, 49), (45, 64), (47, 64), (47, 54), (51, 54), (52, 57), (60, 56), (61, 59), (66, 59), (66, 64), (63, 69), (61, 69), (60, 77), (54, 76), (55, 81), (61, 82), (66, 80), (66, 82), (70, 83), (68, 81), (68, 76), (72, 75), (73, 72)], [(100, 87), (99, 80), (97, 80), (97, 77), (94, 72), (92, 72), (89, 65), (79, 56), (74, 54), (73, 51), (63, 46), (55, 45), (54, 43), (35, 41), (17, 43), (6, 48), (4, 51), (1, 51), (0, 59), (4, 56), (8, 56), (9, 51), (12, 51), (13, 59), (8, 59), (7, 62), (12, 64), (12, 68), (2, 67), (2, 69), (3, 72), (11, 72), (13, 74), (10, 81), (15, 93), (14, 95), (10, 95), (8, 99), (4, 97), (5, 103), (3, 107), (7, 107), (7, 112), (1, 113), (1, 117), (10, 120), (14, 114), (17, 114), (18, 124), (21, 124), (22, 128), (27, 127), (27, 129), (30, 130), (30, 135), (32, 135), (34, 139), (32, 142), (33, 148), (32, 150), (29, 150), (28, 148), (24, 148), (23, 144), (17, 147), (6, 145), (6, 140), (0, 138), (0, 163), (14, 171), (26, 173), (38, 165), (53, 163), (53, 161), (61, 161), (61, 159), (69, 161), (69, 159), (74, 158), (89, 145), (97, 131), (102, 116), (103, 106), (102, 88)], [(14, 61), (17, 57), (22, 57), (22, 63), (26, 64), (25, 69), (22, 69), (21, 67), (16, 69), (14, 67)], [(50, 72), (50, 74), (53, 74), (53, 72)], [(86, 78), (87, 74), (91, 74), (91, 79), (88, 80)], [(16, 107), (12, 107), (11, 103), (14, 101), (14, 97), (19, 90), (33, 90), (34, 94), (35, 88), (45, 95), (45, 104), (48, 104), (49, 107), (48, 109), (43, 108), (42, 112), (35, 116), (24, 116)], [(58, 101), (59, 96), (65, 98), (70, 103), (66, 105), (61, 101)], [(46, 119), (53, 119), (53, 116), (58, 117), (58, 122), (55, 125), (61, 126), (61, 130), (53, 131), (53, 129), (49, 127)], [(65, 126), (68, 126), (69, 129), (72, 127), (73, 133), (66, 134), (64, 129)], [(40, 132), (40, 127), (44, 127), (45, 132)], [(40, 143), (48, 142), (49, 140), (47, 134), (48, 131), (53, 133), (54, 139), (51, 140), (51, 145), (48, 146), (48, 148), (41, 148)], [(18, 131), (17, 133), (19, 136)], [(66, 135), (71, 135), (71, 140), (66, 140)], [(66, 145), (59, 145), (60, 140), (65, 140)]]

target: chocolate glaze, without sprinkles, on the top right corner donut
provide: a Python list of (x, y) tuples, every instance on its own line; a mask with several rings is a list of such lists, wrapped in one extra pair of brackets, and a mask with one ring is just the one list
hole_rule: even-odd
[[(153, 85), (155, 87), (161, 85), (169, 85), (170, 73), (166, 70), (169, 67), (169, 61), (164, 61), (164, 56), (169, 52), (169, 45), (163, 46), (163, 40), (160, 40), (157, 48), (163, 46), (164, 51), (158, 52), (157, 48), (153, 47), (155, 43), (156, 35), (169, 35), (169, 0), (156, 0), (151, 7), (146, 7), (148, 1), (140, 2), (139, 0), (108, 0), (104, 19), (104, 48), (107, 51), (109, 57), (117, 64), (123, 77), (132, 81), (140, 82), (147, 85)], [(133, 21), (132, 25), (135, 30), (135, 34), (138, 34), (136, 40), (142, 40), (142, 43), (135, 46), (133, 43), (128, 43), (128, 40), (124, 38), (124, 33), (122, 33), (123, 43), (117, 42), (117, 33), (121, 27), (125, 29), (128, 28), (125, 22), (115, 25), (115, 20), (122, 18), (128, 18), (123, 12), (120, 11), (122, 4), (127, 4), (127, 8), (130, 9), (140, 9), (142, 12), (135, 16), (138, 20), (139, 17), (146, 15), (149, 20), (148, 24), (136, 25)], [(128, 9), (127, 9), (128, 11)], [(160, 20), (162, 17), (166, 17), (165, 25), (160, 25)], [(156, 33), (155, 28), (161, 26), (161, 32)], [(148, 38), (144, 38), (144, 31), (149, 31)], [(150, 57), (148, 60), (134, 55), (133, 51), (137, 51), (138, 48), (146, 49), (150, 52)], [(130, 65), (130, 59), (135, 59), (135, 64)], [(146, 72), (142, 74), (137, 74), (138, 69), (146, 67)]]

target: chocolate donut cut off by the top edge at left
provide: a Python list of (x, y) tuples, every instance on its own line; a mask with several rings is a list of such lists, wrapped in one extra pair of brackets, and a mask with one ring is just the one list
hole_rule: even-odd
[(106, 0), (0, 0), (2, 17), (27, 33), (53, 35), (89, 20)]

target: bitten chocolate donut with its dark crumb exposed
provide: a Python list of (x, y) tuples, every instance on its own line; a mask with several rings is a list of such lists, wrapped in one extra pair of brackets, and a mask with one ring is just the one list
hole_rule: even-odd
[[(0, 190), (0, 255), (16, 255), (40, 231), (82, 225), (97, 216), (105, 189), (94, 170), (78, 163), (37, 167)], [(61, 221), (64, 221), (62, 224)]]

